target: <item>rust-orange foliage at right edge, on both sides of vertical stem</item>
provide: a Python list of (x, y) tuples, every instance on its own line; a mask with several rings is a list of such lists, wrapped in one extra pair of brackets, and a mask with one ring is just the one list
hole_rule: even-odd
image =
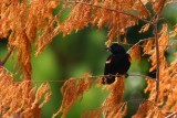
[[(159, 73), (159, 93), (157, 98), (157, 104), (159, 107), (162, 107), (162, 112), (167, 114), (174, 112), (177, 110), (176, 106), (176, 64), (177, 61), (174, 60), (169, 65), (165, 57), (165, 51), (168, 47), (168, 33), (167, 33), (167, 25), (164, 24), (162, 28), (162, 31), (159, 32), (159, 62), (160, 67), (158, 68), (160, 71)], [(146, 50), (144, 49), (144, 53), (150, 55), (149, 61), (152, 62), (152, 68), (150, 72), (156, 68), (156, 51), (155, 47), (152, 45), (153, 41), (148, 41), (145, 45)], [(148, 49), (147, 49), (148, 45)], [(176, 58), (176, 57), (175, 57)], [(148, 100), (154, 100), (157, 94), (156, 88), (156, 82), (153, 79), (147, 79), (147, 87), (145, 89), (145, 93), (150, 92)], [(160, 117), (159, 117), (160, 118)]]

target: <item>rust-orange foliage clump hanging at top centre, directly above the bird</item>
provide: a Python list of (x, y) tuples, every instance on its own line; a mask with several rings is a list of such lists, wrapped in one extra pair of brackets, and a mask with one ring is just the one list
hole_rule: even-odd
[[(74, 3), (75, 2), (75, 3)], [(91, 0), (91, 1), (66, 1), (72, 3), (72, 12), (69, 19), (63, 23), (64, 34), (77, 31), (87, 25), (97, 25), (98, 29), (107, 26), (108, 39), (113, 41), (125, 34), (126, 28), (137, 24), (137, 18), (127, 14), (133, 14), (135, 11), (139, 18), (147, 18), (148, 10), (145, 9), (140, 0)], [(140, 8), (140, 9), (139, 9)]]

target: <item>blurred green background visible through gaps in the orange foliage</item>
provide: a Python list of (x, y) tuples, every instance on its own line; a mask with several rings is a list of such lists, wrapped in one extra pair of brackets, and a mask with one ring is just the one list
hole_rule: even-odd
[[(167, 6), (164, 10), (165, 21), (168, 22), (169, 29), (177, 22), (177, 4)], [(54, 11), (56, 13), (60, 7)], [(63, 14), (62, 19), (65, 19), (67, 12)], [(138, 40), (144, 37), (149, 37), (153, 35), (153, 30), (146, 32), (145, 34), (138, 34), (140, 26), (144, 25), (139, 23), (134, 28), (127, 29), (127, 41), (128, 43), (136, 43)], [(107, 30), (97, 30), (96, 28), (86, 28), (77, 33), (72, 33), (65, 37), (59, 34), (52, 43), (43, 51), (43, 53), (34, 57), (34, 50), (32, 55), (32, 78), (38, 81), (54, 81), (54, 79), (67, 79), (70, 77), (82, 77), (84, 73), (91, 72), (93, 75), (103, 75), (104, 64), (106, 57), (110, 55), (105, 51), (105, 41), (107, 40)], [(175, 39), (174, 39), (175, 41)], [(7, 54), (7, 40), (0, 41), (0, 60)], [(129, 49), (127, 45), (123, 45), (126, 50)], [(169, 53), (176, 51), (176, 47), (169, 47), (167, 50), (168, 61), (173, 60)], [(145, 74), (154, 76), (155, 74), (149, 74), (149, 63), (147, 62), (148, 56), (142, 58), (139, 63), (133, 60), (131, 69), (128, 73)], [(10, 58), (6, 67), (15, 74), (14, 69), (15, 57)], [(52, 88), (51, 100), (44, 105), (42, 108), (42, 118), (51, 118), (53, 114), (60, 108), (62, 96), (60, 88), (63, 83), (50, 83)], [(142, 77), (129, 76), (125, 81), (125, 94), (124, 100), (146, 98), (147, 95), (143, 94), (143, 89), (146, 86), (146, 82)], [(117, 86), (118, 87), (118, 86)], [(73, 92), (74, 93), (74, 92)], [(101, 104), (106, 98), (108, 94), (107, 90), (102, 90), (101, 87), (93, 86), (91, 90), (84, 94), (82, 101), (76, 101), (67, 114), (67, 118), (80, 118), (85, 110), (92, 110), (98, 108)], [(129, 118), (136, 112), (138, 107), (138, 101), (132, 101), (128, 104)], [(60, 118), (60, 116), (59, 116)]]

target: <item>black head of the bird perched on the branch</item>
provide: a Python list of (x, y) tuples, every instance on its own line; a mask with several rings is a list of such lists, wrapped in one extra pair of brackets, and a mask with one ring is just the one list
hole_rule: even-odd
[(111, 51), (113, 54), (126, 54), (125, 49), (117, 43), (113, 43), (111, 46), (106, 47), (106, 50)]

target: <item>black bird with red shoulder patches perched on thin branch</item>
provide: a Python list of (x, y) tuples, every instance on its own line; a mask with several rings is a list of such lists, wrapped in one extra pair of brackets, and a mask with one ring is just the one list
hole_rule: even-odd
[[(104, 77), (102, 84), (112, 84), (115, 82), (115, 75), (127, 75), (131, 66), (131, 56), (126, 53), (125, 49), (117, 43), (107, 47), (111, 55), (107, 57), (104, 68)], [(108, 76), (107, 76), (108, 75)]]

